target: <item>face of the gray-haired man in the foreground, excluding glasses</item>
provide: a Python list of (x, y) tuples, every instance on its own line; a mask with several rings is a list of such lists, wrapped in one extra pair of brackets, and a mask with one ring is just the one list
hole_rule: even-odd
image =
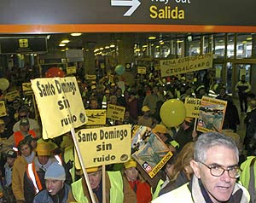
[[(207, 150), (207, 159), (204, 161), (206, 165), (221, 165), (224, 169), (237, 165), (235, 150), (225, 148), (224, 146), (214, 146)], [(200, 162), (191, 161), (191, 166), (195, 172), (195, 176), (201, 178), (201, 183), (207, 189), (207, 193), (212, 202), (223, 202), (230, 199), (235, 188), (236, 178), (231, 178), (228, 171), (224, 171), (220, 177), (212, 176), (210, 169)]]

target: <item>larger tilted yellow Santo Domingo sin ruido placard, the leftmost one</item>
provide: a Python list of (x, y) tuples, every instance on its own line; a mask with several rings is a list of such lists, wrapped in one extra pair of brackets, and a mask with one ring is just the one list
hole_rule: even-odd
[(37, 78), (31, 82), (44, 139), (61, 136), (87, 122), (76, 78)]

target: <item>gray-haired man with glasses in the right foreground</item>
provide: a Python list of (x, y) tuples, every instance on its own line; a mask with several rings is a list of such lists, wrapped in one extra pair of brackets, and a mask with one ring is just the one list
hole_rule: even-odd
[(194, 176), (190, 183), (155, 199), (159, 202), (247, 203), (247, 189), (236, 183), (241, 169), (239, 153), (232, 138), (217, 132), (199, 136), (190, 165)]

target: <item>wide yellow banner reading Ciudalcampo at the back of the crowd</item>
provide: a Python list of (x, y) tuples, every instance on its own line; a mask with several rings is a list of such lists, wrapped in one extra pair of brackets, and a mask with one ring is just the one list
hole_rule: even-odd
[(212, 67), (213, 53), (195, 55), (180, 59), (160, 60), (161, 76), (167, 77), (182, 73), (195, 72)]

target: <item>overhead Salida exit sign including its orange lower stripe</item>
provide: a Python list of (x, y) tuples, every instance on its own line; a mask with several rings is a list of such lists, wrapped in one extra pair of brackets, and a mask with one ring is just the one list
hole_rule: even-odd
[(256, 32), (254, 0), (9, 0), (0, 32)]

